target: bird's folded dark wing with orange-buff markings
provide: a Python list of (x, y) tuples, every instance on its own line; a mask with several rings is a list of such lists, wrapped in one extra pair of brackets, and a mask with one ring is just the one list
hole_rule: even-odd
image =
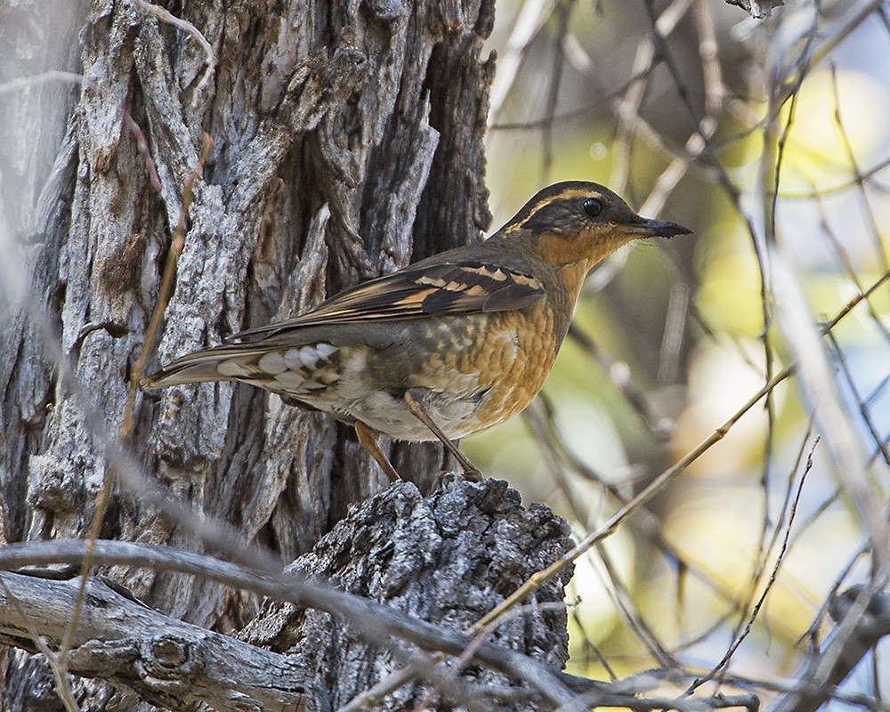
[(346, 289), (312, 312), (248, 329), (232, 338), (251, 341), (293, 328), (503, 312), (543, 298), (544, 285), (522, 271), (481, 261), (418, 264)]

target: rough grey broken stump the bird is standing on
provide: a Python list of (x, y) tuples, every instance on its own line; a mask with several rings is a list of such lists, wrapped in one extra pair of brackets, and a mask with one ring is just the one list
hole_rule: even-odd
[[(463, 630), (571, 546), (565, 522), (542, 505), (525, 510), (519, 500), (506, 482), (471, 484), (458, 478), (427, 499), (414, 485), (401, 483), (357, 507), (294, 568), (417, 619)], [(548, 582), (488, 639), (561, 670), (568, 659), (562, 589), (569, 578), (566, 570)], [(295, 655), (325, 681), (334, 708), (401, 667), (392, 652), (368, 665), (373, 646), (342, 620), (291, 603), (267, 603), (241, 637)], [(480, 689), (522, 687), (521, 681), (474, 664), (458, 679)], [(422, 696), (421, 685), (409, 684), (374, 708), (413, 708)], [(535, 705), (529, 700), (498, 706), (530, 707)]]

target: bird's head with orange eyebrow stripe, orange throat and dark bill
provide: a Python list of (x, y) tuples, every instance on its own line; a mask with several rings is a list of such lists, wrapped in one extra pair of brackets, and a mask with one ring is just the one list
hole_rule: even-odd
[(546, 263), (582, 264), (587, 271), (631, 240), (689, 232), (677, 223), (641, 217), (602, 185), (567, 181), (540, 190), (498, 235), (521, 239)]

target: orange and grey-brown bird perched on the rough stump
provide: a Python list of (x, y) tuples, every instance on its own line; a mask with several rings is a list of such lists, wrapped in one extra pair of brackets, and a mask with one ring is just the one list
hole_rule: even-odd
[(628, 242), (690, 233), (644, 218), (595, 182), (531, 198), (478, 244), (449, 249), (250, 328), (142, 379), (145, 389), (241, 381), (355, 428), (391, 481), (377, 438), (455, 441), (520, 413), (553, 368), (587, 272)]

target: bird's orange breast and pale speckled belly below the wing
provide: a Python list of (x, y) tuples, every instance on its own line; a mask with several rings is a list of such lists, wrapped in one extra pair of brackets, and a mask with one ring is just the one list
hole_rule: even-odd
[(265, 354), (257, 363), (261, 378), (240, 378), (397, 440), (434, 440), (409, 412), (409, 391), (457, 439), (522, 411), (546, 381), (558, 349), (544, 304), (381, 328), (387, 331), (379, 344), (332, 338), (330, 344), (295, 346)]

